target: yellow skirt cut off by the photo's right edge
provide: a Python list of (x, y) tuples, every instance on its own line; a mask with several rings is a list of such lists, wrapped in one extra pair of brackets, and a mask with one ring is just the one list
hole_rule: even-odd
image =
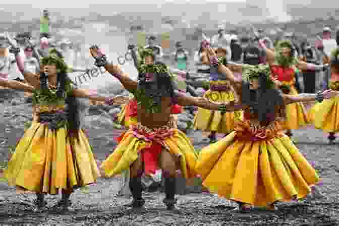
[(327, 133), (339, 131), (339, 97), (316, 103), (308, 112), (311, 123), (316, 129)]

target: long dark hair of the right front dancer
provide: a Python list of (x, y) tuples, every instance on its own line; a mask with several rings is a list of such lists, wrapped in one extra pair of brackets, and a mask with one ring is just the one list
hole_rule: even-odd
[(262, 126), (274, 121), (277, 116), (286, 118), (286, 107), (280, 90), (268, 87), (266, 77), (260, 76), (260, 87), (251, 90), (248, 81), (243, 81), (242, 103), (250, 106)]

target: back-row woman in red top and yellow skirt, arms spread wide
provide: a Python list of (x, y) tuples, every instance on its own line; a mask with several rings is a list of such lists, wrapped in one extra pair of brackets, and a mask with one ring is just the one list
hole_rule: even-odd
[[(298, 95), (295, 88), (296, 70), (320, 71), (326, 69), (322, 65), (299, 61), (296, 57), (296, 50), (288, 40), (279, 41), (274, 52), (268, 49), (261, 40), (259, 40), (259, 46), (266, 51), (267, 62), (273, 62), (270, 64), (271, 72), (273, 76), (277, 76), (279, 86), (290, 87), (289, 95)], [(302, 103), (297, 102), (286, 106), (286, 120), (283, 127), (287, 130), (288, 136), (292, 137), (291, 130), (299, 129), (309, 123), (307, 111)]]

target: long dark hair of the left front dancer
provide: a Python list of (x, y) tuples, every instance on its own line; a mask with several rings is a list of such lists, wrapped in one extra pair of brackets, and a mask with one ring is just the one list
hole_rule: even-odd
[[(58, 56), (62, 54), (60, 52), (57, 53)], [(47, 81), (48, 77), (47, 75), (42, 72), (40, 73), (40, 82), (41, 82), (41, 89), (47, 90)], [(57, 96), (58, 98), (64, 98), (65, 97), (65, 90), (66, 88), (70, 88), (67, 86), (71, 86), (72, 80), (69, 78), (67, 72), (59, 72), (57, 74)], [(69, 138), (76, 138), (78, 137), (78, 132), (80, 129), (80, 116), (79, 116), (79, 101), (78, 99), (72, 95), (72, 93), (68, 93), (66, 97), (66, 103), (68, 105), (68, 134), (67, 136)], [(72, 139), (70, 139), (72, 140)]]

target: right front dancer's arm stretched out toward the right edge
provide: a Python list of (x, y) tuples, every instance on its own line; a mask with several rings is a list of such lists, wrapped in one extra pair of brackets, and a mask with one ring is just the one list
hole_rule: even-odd
[(318, 92), (316, 94), (313, 93), (300, 93), (298, 95), (287, 95), (283, 94), (286, 104), (296, 103), (296, 102), (306, 102), (306, 101), (313, 101), (317, 100), (321, 102), (323, 99), (330, 99), (334, 96), (339, 95), (338, 91), (334, 90), (325, 90), (323, 92)]

